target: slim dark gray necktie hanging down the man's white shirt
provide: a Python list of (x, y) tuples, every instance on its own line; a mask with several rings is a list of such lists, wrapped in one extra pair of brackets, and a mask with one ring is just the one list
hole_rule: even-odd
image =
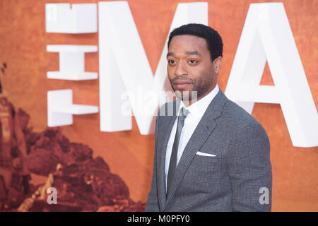
[(173, 181), (173, 178), (175, 177), (175, 169), (177, 168), (177, 153), (178, 153), (180, 135), (184, 125), (184, 119), (187, 117), (188, 113), (189, 111), (187, 109), (184, 109), (184, 107), (182, 107), (181, 115), (179, 115), (178, 117), (177, 132), (175, 133), (175, 141), (173, 142), (173, 146), (172, 146), (169, 171), (167, 175), (167, 194), (169, 193), (171, 189), (172, 181)]

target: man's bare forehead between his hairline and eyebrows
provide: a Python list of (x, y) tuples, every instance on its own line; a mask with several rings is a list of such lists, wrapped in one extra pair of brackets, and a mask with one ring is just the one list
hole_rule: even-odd
[(197, 51), (208, 52), (208, 44), (203, 37), (194, 35), (176, 35), (172, 37), (168, 52)]

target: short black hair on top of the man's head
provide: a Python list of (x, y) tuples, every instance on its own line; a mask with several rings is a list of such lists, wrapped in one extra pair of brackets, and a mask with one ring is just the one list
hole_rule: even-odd
[(223, 42), (222, 37), (213, 28), (200, 24), (200, 23), (189, 23), (182, 25), (179, 28), (175, 28), (169, 35), (167, 47), (169, 48), (172, 37), (176, 35), (194, 35), (202, 37), (208, 44), (208, 51), (211, 54), (211, 61), (218, 57), (223, 57)]

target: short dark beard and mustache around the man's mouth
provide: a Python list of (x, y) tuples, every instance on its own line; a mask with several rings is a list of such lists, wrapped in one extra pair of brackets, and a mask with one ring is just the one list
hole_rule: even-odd
[[(172, 86), (172, 90), (175, 91), (175, 95), (177, 98), (181, 100), (193, 100), (196, 101), (199, 97), (206, 95), (208, 90), (210, 90), (213, 85), (213, 79), (211, 75), (202, 75), (198, 79), (187, 78), (187, 76), (181, 76), (177, 78), (173, 78), (170, 80), (170, 84)], [(176, 90), (172, 85), (175, 81), (189, 81), (192, 84), (192, 90)]]

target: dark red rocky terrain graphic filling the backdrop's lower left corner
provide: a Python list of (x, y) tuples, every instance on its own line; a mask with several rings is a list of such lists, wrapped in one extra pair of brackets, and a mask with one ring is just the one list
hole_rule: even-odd
[[(34, 132), (23, 109), (16, 112), (6, 97), (0, 102), (0, 211), (144, 210), (88, 145), (71, 143), (60, 128)], [(57, 204), (47, 201), (50, 187)]]

